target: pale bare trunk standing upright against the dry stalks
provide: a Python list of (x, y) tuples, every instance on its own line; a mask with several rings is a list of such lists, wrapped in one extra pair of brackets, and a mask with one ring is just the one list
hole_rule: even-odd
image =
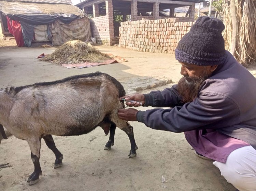
[(232, 39), (231, 39), (230, 53), (234, 55), (234, 52), (236, 50), (236, 43), (237, 43), (237, 15), (236, 15), (235, 0), (230, 0), (230, 15), (231, 15), (231, 23), (232, 23)]

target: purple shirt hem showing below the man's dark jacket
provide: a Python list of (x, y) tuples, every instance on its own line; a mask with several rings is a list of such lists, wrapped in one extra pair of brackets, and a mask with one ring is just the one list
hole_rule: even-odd
[(217, 131), (207, 130), (194, 130), (184, 132), (187, 142), (199, 154), (225, 163), (228, 155), (243, 146), (249, 146), (247, 142), (235, 139), (219, 133)]

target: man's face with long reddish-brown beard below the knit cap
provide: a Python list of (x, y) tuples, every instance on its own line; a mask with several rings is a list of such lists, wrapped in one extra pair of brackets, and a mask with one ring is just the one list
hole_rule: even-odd
[(182, 102), (192, 102), (198, 95), (202, 83), (208, 79), (217, 68), (214, 66), (197, 66), (181, 63), (181, 74), (184, 76), (178, 82), (178, 92), (182, 96)]

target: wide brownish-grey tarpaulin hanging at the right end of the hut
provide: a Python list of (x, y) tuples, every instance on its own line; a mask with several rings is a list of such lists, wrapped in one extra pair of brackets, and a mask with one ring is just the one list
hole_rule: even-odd
[(76, 19), (69, 24), (56, 20), (49, 24), (49, 29), (53, 45), (62, 45), (71, 39), (86, 41), (91, 38), (90, 21), (87, 17)]

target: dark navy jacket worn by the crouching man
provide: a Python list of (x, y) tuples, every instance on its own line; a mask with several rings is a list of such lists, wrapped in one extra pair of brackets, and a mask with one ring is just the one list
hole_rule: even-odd
[(145, 94), (145, 105), (171, 107), (139, 111), (137, 120), (153, 129), (186, 132), (217, 131), (256, 149), (256, 79), (227, 51), (227, 59), (203, 82), (198, 97), (184, 105), (177, 85)]

